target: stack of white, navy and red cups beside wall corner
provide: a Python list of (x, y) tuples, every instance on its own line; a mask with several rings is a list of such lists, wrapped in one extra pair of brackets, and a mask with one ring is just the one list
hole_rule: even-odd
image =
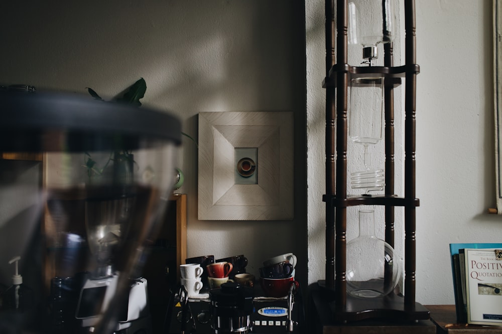
[(295, 281), (296, 255), (281, 254), (263, 261), (260, 268), (260, 284), (267, 297), (285, 297), (292, 284), (299, 287)]

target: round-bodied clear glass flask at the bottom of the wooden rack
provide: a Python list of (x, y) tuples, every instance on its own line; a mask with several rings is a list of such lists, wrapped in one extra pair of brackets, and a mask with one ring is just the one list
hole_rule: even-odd
[(375, 236), (374, 211), (359, 210), (359, 235), (347, 242), (347, 293), (361, 298), (391, 293), (401, 278), (401, 259)]

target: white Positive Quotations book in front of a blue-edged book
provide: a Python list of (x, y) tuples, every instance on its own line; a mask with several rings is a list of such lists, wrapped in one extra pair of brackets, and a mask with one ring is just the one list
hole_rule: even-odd
[(502, 247), (464, 254), (467, 323), (502, 325)]

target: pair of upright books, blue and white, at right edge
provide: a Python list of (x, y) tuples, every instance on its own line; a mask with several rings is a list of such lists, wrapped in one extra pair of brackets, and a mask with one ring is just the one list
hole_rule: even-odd
[(451, 243), (457, 323), (502, 325), (502, 243)]

